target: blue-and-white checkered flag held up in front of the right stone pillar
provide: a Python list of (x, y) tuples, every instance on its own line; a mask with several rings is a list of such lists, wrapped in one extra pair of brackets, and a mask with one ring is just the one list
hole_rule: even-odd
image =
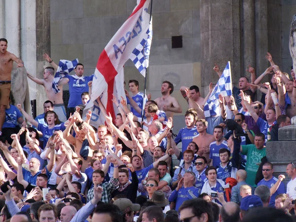
[(219, 108), (219, 94), (222, 94), (223, 96), (232, 95), (230, 62), (227, 63), (220, 79), (218, 80), (213, 92), (205, 104), (205, 117), (217, 115)]

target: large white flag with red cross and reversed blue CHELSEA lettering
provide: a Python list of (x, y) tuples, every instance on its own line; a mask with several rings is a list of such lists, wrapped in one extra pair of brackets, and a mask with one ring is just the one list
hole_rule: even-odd
[(101, 97), (102, 104), (113, 119), (115, 119), (117, 108), (112, 103), (112, 94), (117, 99), (121, 96), (125, 98), (123, 66), (142, 39), (147, 37), (150, 18), (147, 12), (149, 3), (150, 0), (137, 0), (134, 11), (111, 38), (98, 59), (92, 82), (91, 99), (83, 110), (83, 116), (88, 110), (92, 110), (90, 124), (95, 127), (104, 124), (104, 116), (96, 104), (98, 97)]

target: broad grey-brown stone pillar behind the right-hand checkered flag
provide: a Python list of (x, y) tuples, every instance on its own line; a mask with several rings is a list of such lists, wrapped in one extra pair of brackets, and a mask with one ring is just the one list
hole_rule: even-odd
[(239, 0), (200, 0), (201, 85), (204, 95), (210, 82), (219, 76), (214, 63), (223, 70), (231, 63), (232, 82), (240, 77), (240, 9)]

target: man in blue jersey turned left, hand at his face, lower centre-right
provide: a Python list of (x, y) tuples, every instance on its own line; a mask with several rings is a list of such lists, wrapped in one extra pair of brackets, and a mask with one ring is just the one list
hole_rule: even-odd
[(200, 189), (194, 186), (195, 174), (192, 171), (187, 171), (184, 177), (179, 181), (177, 188), (172, 192), (169, 201), (176, 202), (176, 211), (185, 200), (197, 198), (200, 194)]

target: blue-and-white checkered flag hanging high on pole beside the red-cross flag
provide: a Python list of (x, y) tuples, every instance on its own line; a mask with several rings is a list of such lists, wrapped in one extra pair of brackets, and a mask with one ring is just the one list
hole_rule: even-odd
[(149, 54), (152, 42), (152, 18), (146, 34), (147, 37), (142, 39), (142, 41), (137, 45), (129, 57), (144, 77), (146, 75), (146, 69), (149, 66)]

